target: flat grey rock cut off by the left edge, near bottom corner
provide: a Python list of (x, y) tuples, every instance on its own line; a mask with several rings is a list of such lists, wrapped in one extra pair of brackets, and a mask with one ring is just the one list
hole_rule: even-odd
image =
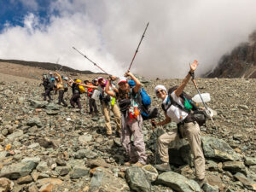
[(30, 174), (36, 166), (37, 165), (32, 161), (3, 166), (3, 169), (0, 172), (0, 177), (7, 177), (10, 179), (24, 177)]

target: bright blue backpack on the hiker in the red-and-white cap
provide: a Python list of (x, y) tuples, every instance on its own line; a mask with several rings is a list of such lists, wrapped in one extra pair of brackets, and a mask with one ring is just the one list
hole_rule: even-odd
[[(131, 86), (131, 88), (135, 86), (135, 82), (133, 80), (128, 81), (128, 84)], [(137, 93), (136, 100), (143, 120), (154, 119), (159, 116), (159, 111), (157, 108), (150, 109), (151, 98), (148, 96), (146, 90), (141, 88)]]

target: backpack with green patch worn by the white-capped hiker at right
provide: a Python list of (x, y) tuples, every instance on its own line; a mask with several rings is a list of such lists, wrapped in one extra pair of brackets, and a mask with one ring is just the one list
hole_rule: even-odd
[(190, 116), (189, 118), (191, 118), (191, 120), (193, 121), (196, 121), (198, 125), (201, 126), (206, 124), (207, 113), (196, 106), (195, 102), (192, 101), (192, 97), (183, 91), (182, 94), (180, 95), (180, 97), (183, 98), (184, 107), (182, 107), (177, 102), (175, 102), (171, 96), (174, 90), (177, 90), (177, 86), (174, 86), (168, 90), (168, 96), (171, 104), (169, 104), (167, 108), (164, 108), (164, 104), (162, 104), (161, 107), (163, 108), (163, 110), (166, 112), (172, 105), (174, 105), (177, 108), (180, 108), (181, 110), (183, 110), (184, 112), (189, 113), (189, 116)]

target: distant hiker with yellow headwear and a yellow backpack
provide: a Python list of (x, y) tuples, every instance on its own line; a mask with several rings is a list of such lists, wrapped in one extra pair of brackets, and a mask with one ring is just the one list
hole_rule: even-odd
[(73, 96), (70, 99), (70, 104), (73, 108), (75, 108), (75, 104), (78, 105), (78, 108), (81, 110), (82, 106), (81, 106), (81, 102), (80, 102), (80, 94), (84, 93), (85, 90), (82, 86), (80, 86), (79, 84), (81, 84), (81, 80), (80, 79), (76, 79), (75, 81), (73, 81), (71, 79), (71, 83), (72, 84), (72, 92), (73, 92)]

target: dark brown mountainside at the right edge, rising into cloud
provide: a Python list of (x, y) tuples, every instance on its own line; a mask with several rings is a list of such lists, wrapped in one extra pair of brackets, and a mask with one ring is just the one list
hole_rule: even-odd
[(256, 78), (256, 32), (250, 35), (247, 43), (240, 44), (224, 55), (207, 78)]

